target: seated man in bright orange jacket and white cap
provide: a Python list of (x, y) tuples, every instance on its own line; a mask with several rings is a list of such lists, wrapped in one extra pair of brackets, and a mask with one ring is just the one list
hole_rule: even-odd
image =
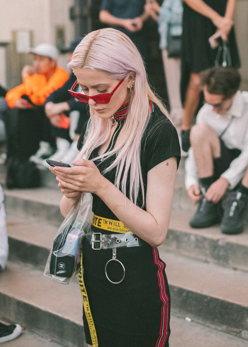
[(34, 154), (48, 157), (55, 150), (44, 103), (47, 96), (69, 78), (68, 72), (56, 65), (58, 51), (55, 46), (41, 43), (30, 49), (30, 53), (34, 54), (34, 65), (24, 66), (21, 72), (23, 83), (6, 94), (10, 108), (7, 155), (24, 160)]

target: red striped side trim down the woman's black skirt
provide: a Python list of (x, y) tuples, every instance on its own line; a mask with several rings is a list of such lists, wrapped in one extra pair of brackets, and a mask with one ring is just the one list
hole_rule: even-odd
[(156, 247), (152, 248), (154, 264), (158, 266), (157, 277), (159, 286), (159, 295), (162, 301), (161, 306), (161, 324), (159, 330), (159, 338), (156, 342), (155, 347), (163, 347), (169, 336), (169, 298), (166, 291), (166, 281), (163, 271), (165, 269), (165, 264), (161, 262), (158, 255), (158, 249)]

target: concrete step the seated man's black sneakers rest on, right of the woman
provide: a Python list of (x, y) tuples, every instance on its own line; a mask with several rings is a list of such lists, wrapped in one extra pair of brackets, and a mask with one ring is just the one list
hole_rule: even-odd
[(248, 225), (239, 235), (225, 235), (220, 226), (193, 229), (191, 214), (173, 210), (166, 240), (161, 252), (174, 252), (191, 259), (215, 263), (232, 269), (248, 271)]

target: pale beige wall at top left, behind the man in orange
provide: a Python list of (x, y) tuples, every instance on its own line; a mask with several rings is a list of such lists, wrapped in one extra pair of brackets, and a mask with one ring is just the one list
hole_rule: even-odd
[[(18, 33), (27, 38), (30, 47), (41, 42), (68, 45), (74, 38), (74, 23), (69, 19), (73, 0), (8, 0), (1, 3), (0, 84), (11, 88), (21, 82), (20, 71), (32, 59), (18, 52)], [(62, 35), (61, 35), (62, 34)], [(63, 40), (58, 39), (58, 35)], [(25, 40), (23, 40), (25, 43)], [(27, 46), (27, 44), (23, 45)], [(67, 68), (66, 55), (60, 55), (58, 64)]]

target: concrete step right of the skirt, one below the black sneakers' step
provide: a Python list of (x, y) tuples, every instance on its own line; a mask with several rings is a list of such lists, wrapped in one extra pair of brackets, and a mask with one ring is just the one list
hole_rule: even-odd
[[(174, 313), (184, 312), (205, 322), (246, 337), (248, 276), (246, 272), (203, 263), (173, 253), (162, 255)], [(237, 285), (238, 283), (238, 285)]]

